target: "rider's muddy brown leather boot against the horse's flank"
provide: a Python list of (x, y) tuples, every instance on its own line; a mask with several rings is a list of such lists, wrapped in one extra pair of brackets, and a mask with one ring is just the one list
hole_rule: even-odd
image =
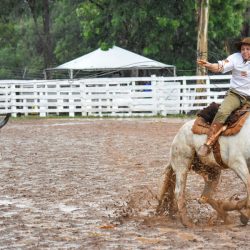
[(225, 131), (226, 128), (227, 128), (227, 125), (224, 125), (223, 123), (213, 122), (210, 126), (210, 129), (207, 135), (207, 141), (205, 142), (205, 144), (203, 144), (199, 148), (198, 155), (207, 156), (211, 152), (212, 146), (219, 138), (221, 132)]

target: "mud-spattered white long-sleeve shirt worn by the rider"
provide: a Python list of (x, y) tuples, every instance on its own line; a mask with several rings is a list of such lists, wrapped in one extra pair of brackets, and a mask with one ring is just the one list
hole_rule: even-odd
[(222, 73), (232, 71), (230, 88), (250, 96), (250, 61), (244, 61), (241, 53), (234, 53), (227, 59), (218, 61)]

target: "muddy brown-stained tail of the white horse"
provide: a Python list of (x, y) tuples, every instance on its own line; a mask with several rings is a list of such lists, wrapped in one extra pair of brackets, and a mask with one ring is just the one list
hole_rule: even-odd
[(157, 214), (167, 213), (172, 215), (176, 212), (177, 208), (174, 197), (175, 182), (176, 176), (174, 170), (171, 163), (168, 163), (158, 196)]

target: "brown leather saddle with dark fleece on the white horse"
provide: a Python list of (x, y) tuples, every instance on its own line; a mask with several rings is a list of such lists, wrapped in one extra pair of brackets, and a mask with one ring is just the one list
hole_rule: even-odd
[[(192, 132), (194, 134), (208, 134), (210, 125), (214, 119), (215, 114), (218, 111), (220, 104), (212, 102), (208, 107), (202, 109), (198, 112), (197, 118), (193, 124)], [(243, 105), (242, 107), (236, 109), (232, 114), (228, 117), (225, 124), (227, 125), (226, 130), (224, 130), (221, 135), (222, 136), (231, 136), (237, 134), (241, 128), (243, 127), (246, 119), (249, 116), (250, 106), (248, 104)], [(221, 136), (220, 135), (220, 136)], [(216, 162), (223, 167), (227, 167), (222, 159), (220, 154), (220, 144), (218, 140), (212, 146), (214, 157)]]

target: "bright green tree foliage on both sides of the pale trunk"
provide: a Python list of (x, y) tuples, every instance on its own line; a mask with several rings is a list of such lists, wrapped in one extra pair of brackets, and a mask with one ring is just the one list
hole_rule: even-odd
[[(212, 55), (225, 55), (226, 41), (239, 36), (246, 5), (246, 0), (210, 1), (208, 39)], [(89, 0), (77, 13), (91, 49), (116, 44), (195, 73), (196, 1)]]

